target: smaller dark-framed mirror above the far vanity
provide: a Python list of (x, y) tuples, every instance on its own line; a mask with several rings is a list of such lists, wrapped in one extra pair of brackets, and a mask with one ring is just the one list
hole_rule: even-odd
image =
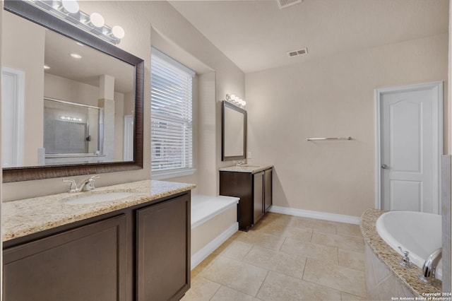
[(246, 158), (246, 111), (222, 102), (222, 160)]

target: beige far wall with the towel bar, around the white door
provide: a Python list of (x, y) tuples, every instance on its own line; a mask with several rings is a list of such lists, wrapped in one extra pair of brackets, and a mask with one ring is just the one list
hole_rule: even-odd
[[(375, 206), (374, 89), (444, 81), (446, 94), (447, 76), (447, 34), (246, 74), (249, 163), (275, 166), (276, 206), (360, 216)], [(353, 140), (306, 141), (325, 136)]]

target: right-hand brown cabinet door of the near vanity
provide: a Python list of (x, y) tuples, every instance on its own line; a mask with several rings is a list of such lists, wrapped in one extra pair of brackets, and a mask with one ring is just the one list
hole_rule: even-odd
[(190, 195), (139, 209), (138, 301), (179, 300), (190, 288)]

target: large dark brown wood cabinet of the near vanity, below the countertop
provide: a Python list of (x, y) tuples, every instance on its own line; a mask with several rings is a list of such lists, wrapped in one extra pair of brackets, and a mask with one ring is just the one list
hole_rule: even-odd
[(190, 230), (184, 192), (6, 241), (3, 300), (179, 300)]

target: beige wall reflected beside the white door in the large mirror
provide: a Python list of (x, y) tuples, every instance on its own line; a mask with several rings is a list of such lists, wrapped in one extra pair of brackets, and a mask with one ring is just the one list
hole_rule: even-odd
[[(44, 124), (44, 35), (45, 30), (34, 23), (20, 22), (18, 16), (4, 13), (3, 41), (16, 41), (17, 47), (4, 47), (2, 66), (25, 73), (23, 165), (37, 165), (38, 148), (42, 148)], [(6, 44), (7, 45), (7, 44)], [(32, 51), (31, 51), (32, 50)]]

